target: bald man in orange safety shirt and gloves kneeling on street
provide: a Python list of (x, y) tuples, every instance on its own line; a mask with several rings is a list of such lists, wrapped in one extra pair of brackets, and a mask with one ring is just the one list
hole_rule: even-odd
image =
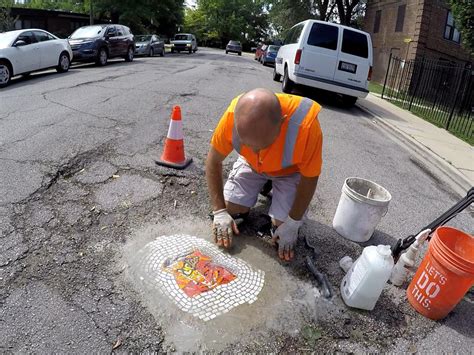
[[(232, 245), (233, 235), (239, 234), (232, 216), (248, 213), (271, 180), (273, 241), (282, 260), (293, 258), (298, 230), (321, 173), (320, 110), (308, 98), (266, 89), (232, 100), (211, 139), (206, 161), (213, 234), (219, 246)], [(233, 149), (239, 158), (223, 186), (222, 162)]]

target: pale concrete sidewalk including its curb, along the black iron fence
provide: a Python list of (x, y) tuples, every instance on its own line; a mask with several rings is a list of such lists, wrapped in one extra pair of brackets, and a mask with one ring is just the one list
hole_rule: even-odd
[(461, 195), (474, 185), (474, 147), (374, 94), (359, 99), (357, 106), (435, 164), (452, 179)]

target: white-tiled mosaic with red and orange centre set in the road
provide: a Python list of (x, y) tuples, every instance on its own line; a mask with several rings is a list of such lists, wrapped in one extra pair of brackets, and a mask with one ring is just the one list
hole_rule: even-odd
[(198, 237), (161, 236), (143, 252), (143, 281), (204, 321), (255, 302), (263, 288), (263, 271)]

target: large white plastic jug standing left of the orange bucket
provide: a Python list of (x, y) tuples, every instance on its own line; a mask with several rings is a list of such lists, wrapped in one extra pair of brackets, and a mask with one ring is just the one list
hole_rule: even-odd
[(374, 309), (393, 268), (389, 245), (371, 245), (342, 279), (341, 295), (344, 302), (354, 308)]

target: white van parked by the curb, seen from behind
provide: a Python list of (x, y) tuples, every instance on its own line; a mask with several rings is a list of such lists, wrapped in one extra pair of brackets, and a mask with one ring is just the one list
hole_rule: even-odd
[(283, 92), (294, 84), (342, 94), (347, 105), (368, 94), (372, 40), (367, 32), (317, 20), (293, 26), (278, 51), (273, 80)]

